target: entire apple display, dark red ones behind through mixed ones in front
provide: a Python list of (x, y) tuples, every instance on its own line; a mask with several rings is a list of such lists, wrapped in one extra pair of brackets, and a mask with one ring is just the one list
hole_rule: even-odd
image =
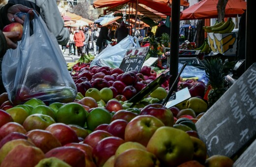
[(231, 167), (234, 163), (221, 155), (209, 157), (197, 135), (195, 123), (209, 108), (203, 82), (180, 77), (178, 89), (188, 87), (192, 97), (166, 108), (159, 102), (167, 96), (168, 81), (141, 101), (128, 102), (156, 79), (151, 67), (124, 73), (79, 62), (70, 75), (78, 90), (72, 102), (48, 104), (32, 98), (20, 105), (1, 103), (0, 166), (19, 167), (25, 162), (33, 167), (222, 163)]

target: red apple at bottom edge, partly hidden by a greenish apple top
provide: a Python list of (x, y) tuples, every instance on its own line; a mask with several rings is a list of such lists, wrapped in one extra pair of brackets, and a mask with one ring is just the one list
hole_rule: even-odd
[(53, 148), (45, 154), (46, 158), (56, 157), (72, 167), (85, 167), (84, 152), (73, 146)]

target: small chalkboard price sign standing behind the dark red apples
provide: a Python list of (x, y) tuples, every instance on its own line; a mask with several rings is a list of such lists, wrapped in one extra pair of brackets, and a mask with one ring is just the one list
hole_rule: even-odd
[(124, 72), (136, 70), (140, 71), (147, 56), (149, 47), (129, 49), (124, 56), (120, 67)]

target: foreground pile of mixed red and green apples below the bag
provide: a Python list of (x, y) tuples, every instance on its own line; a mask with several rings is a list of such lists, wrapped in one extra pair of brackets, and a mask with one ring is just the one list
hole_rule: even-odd
[(1, 109), (0, 167), (231, 167), (228, 157), (207, 157), (194, 125), (203, 111), (192, 100), (187, 110), (124, 109), (114, 99), (97, 107), (89, 96), (50, 105), (33, 98)]

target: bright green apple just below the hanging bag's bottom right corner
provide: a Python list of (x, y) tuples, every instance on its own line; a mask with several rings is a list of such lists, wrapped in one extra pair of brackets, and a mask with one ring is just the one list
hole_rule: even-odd
[(87, 115), (88, 111), (81, 104), (75, 102), (66, 103), (57, 111), (56, 122), (75, 124), (83, 127)]

